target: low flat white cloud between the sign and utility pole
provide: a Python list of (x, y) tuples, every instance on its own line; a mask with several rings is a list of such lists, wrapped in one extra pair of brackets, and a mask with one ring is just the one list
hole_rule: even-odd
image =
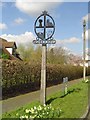
[(76, 37), (72, 37), (64, 40), (57, 40), (57, 44), (75, 44), (79, 42), (80, 42), (80, 39)]

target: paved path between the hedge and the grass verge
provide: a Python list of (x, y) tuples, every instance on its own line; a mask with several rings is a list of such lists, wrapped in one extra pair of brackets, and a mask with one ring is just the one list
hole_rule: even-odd
[[(80, 80), (81, 79), (70, 81), (68, 82), (68, 86), (75, 84)], [(62, 88), (63, 88), (63, 84), (48, 87), (47, 96), (62, 90)], [(2, 113), (15, 110), (32, 101), (37, 101), (40, 98), (39, 96), (40, 96), (40, 90), (0, 101), (0, 104), (2, 104)]]

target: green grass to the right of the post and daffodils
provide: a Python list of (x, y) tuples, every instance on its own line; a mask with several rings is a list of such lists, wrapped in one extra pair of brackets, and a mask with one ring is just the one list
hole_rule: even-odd
[(57, 93), (52, 95), (51, 98), (54, 99), (51, 104), (62, 110), (60, 118), (79, 118), (87, 108), (88, 84), (79, 82), (69, 88), (66, 96)]

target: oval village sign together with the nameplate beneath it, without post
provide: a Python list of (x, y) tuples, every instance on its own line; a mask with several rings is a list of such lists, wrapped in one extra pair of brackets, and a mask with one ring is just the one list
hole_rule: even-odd
[[(43, 29), (43, 32), (39, 32), (39, 30)], [(47, 30), (51, 32), (47, 35)], [(55, 44), (56, 41), (52, 38), (55, 32), (55, 22), (53, 18), (44, 11), (35, 21), (34, 31), (37, 35), (36, 40), (33, 40), (34, 44)]]

